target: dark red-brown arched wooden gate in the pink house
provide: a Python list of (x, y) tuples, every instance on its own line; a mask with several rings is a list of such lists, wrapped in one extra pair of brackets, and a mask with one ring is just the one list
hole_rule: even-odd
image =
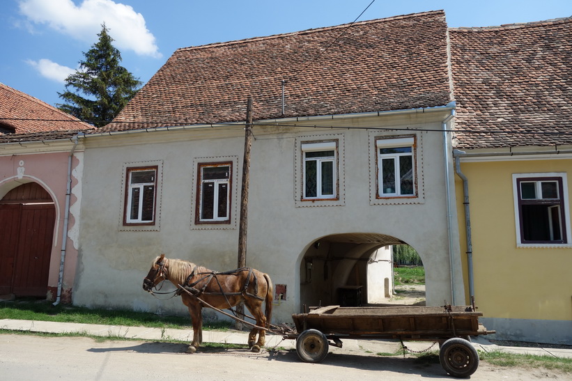
[(0, 200), (0, 295), (46, 297), (56, 208), (29, 182)]

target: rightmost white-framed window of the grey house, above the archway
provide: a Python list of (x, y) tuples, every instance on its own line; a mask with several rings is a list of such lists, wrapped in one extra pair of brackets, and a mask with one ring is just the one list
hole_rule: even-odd
[(417, 195), (415, 138), (376, 139), (378, 197)]

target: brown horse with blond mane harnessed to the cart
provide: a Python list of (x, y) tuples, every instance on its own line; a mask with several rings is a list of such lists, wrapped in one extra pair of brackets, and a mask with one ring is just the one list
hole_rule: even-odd
[[(244, 267), (230, 272), (213, 272), (206, 267), (180, 259), (168, 259), (164, 254), (153, 260), (153, 265), (143, 280), (143, 289), (152, 293), (153, 287), (168, 280), (179, 288), (183, 304), (189, 309), (193, 326), (193, 340), (188, 353), (194, 353), (203, 342), (203, 304), (201, 300), (217, 309), (230, 309), (240, 302), (256, 319), (258, 327), (270, 327), (272, 318), (272, 281), (268, 274)], [(192, 294), (192, 295), (191, 295)], [(263, 312), (262, 303), (266, 302)], [(256, 341), (258, 334), (258, 341)], [(259, 352), (265, 343), (265, 330), (253, 328), (248, 335), (252, 352)], [(256, 341), (256, 343), (255, 343)]]

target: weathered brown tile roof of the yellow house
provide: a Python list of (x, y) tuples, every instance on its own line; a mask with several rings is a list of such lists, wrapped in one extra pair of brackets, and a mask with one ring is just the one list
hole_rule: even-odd
[(477, 132), (457, 132), (457, 148), (572, 144), (571, 26), (449, 29), (456, 128)]

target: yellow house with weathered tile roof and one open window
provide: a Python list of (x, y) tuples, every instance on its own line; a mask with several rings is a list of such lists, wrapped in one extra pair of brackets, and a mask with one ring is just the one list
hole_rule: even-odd
[(572, 344), (571, 26), (449, 30), (466, 289), (498, 339)]

